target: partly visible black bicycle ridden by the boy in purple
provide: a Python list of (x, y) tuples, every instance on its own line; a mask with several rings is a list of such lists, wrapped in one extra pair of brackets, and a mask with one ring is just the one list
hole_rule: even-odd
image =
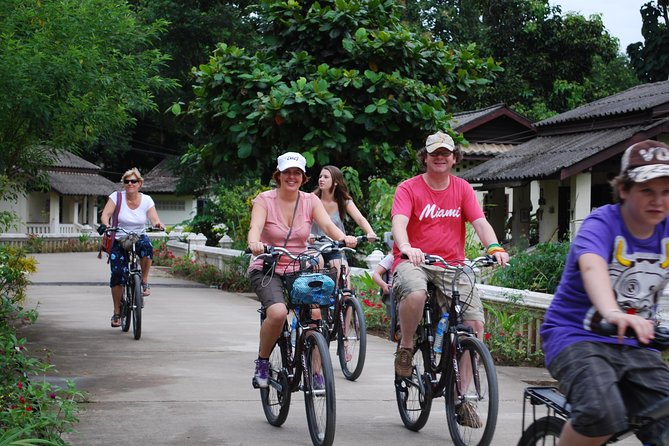
[[(616, 336), (618, 327), (601, 320), (597, 325), (593, 324), (593, 330), (609, 335)], [(626, 336), (634, 337), (632, 329), (628, 329)], [(669, 349), (669, 329), (665, 327), (655, 327), (655, 339), (650, 345), (658, 350)], [(527, 405), (532, 406), (532, 422), (525, 428), (525, 418)], [(546, 406), (546, 414), (537, 418), (537, 407)], [(535, 445), (555, 445), (560, 438), (562, 428), (571, 414), (571, 405), (564, 394), (557, 387), (552, 386), (530, 386), (523, 392), (523, 422), (522, 435), (518, 446)], [(616, 432), (604, 444), (610, 444), (625, 439), (637, 433), (644, 426), (669, 416), (669, 397), (666, 397), (655, 404), (645, 408), (638, 414), (632, 415), (628, 419), (627, 429)], [(669, 442), (669, 430), (664, 432), (664, 439), (658, 444), (667, 444)]]

